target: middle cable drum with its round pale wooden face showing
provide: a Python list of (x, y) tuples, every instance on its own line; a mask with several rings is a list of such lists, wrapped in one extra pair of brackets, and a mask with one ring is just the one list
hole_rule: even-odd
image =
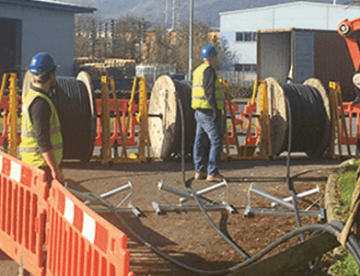
[(192, 153), (196, 122), (191, 108), (191, 86), (187, 81), (160, 76), (151, 91), (149, 137), (154, 157), (168, 160), (181, 152), (180, 100), (185, 115), (185, 154)]

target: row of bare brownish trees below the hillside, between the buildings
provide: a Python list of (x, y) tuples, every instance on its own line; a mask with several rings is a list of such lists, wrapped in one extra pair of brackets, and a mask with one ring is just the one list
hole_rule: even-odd
[[(110, 24), (110, 27), (109, 27)], [(212, 44), (223, 64), (235, 59), (226, 41), (220, 41), (209, 24), (193, 22), (192, 59), (195, 68), (202, 59), (201, 49)], [(127, 15), (117, 21), (100, 21), (92, 16), (75, 17), (75, 57), (118, 57), (151, 64), (175, 64), (179, 72), (189, 66), (189, 22), (178, 23), (174, 30), (165, 25), (151, 26), (143, 18)]]

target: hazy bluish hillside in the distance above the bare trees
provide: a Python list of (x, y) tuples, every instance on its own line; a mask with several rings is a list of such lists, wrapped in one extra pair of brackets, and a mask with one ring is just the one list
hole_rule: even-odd
[[(64, 0), (66, 1), (66, 0)], [(72, 0), (67, 0), (71, 2)], [(74, 2), (76, 0), (73, 0)], [(81, 1), (81, 0), (80, 0)], [(128, 14), (144, 17), (154, 23), (165, 23), (166, 0), (92, 0), (93, 7), (104, 19), (121, 18)], [(189, 20), (190, 0), (175, 0), (176, 20)], [(194, 0), (194, 18), (197, 21), (209, 22), (211, 26), (219, 26), (219, 12), (270, 6), (291, 0)], [(312, 2), (333, 3), (333, 0), (314, 0)], [(337, 0), (337, 4), (347, 4), (348, 0)], [(167, 0), (167, 26), (171, 26), (173, 0)]]

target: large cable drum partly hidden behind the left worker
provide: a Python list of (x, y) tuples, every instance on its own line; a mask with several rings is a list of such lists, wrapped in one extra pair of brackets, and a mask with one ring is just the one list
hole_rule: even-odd
[[(22, 97), (31, 86), (31, 74), (26, 73)], [(57, 77), (55, 88), (49, 92), (61, 124), (63, 159), (90, 160), (96, 137), (96, 102), (94, 88), (88, 73), (82, 71), (76, 78)]]

